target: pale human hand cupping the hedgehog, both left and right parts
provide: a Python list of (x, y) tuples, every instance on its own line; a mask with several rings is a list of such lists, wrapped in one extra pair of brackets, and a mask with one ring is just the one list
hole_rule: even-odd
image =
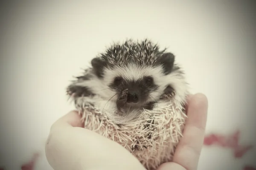
[[(208, 101), (204, 94), (187, 99), (188, 119), (173, 162), (158, 170), (196, 170), (204, 141)], [(71, 111), (51, 127), (45, 147), (54, 170), (145, 170), (121, 145), (83, 128), (81, 117)]]

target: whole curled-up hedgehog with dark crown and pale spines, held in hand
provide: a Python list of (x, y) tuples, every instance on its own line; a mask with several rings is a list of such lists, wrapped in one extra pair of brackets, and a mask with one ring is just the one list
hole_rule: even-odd
[(149, 40), (113, 44), (67, 88), (84, 127), (118, 142), (148, 170), (172, 161), (189, 94), (175, 56)]

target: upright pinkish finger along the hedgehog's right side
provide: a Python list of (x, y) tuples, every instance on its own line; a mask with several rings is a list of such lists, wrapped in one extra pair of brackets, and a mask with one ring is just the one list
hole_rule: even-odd
[(173, 161), (186, 170), (196, 170), (204, 141), (208, 101), (204, 94), (195, 94), (188, 101), (183, 138), (176, 148)]

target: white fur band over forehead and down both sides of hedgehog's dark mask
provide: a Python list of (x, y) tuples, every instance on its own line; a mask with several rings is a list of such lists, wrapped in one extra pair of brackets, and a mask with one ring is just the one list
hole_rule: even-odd
[[(108, 85), (113, 82), (115, 77), (121, 76), (127, 80), (137, 80), (145, 76), (151, 76), (154, 78), (154, 83), (159, 86), (157, 91), (150, 93), (151, 98), (157, 99), (163, 94), (167, 85), (171, 85), (175, 90), (174, 99), (176, 102), (185, 103), (186, 95), (188, 94), (188, 87), (185, 82), (185, 78), (178, 71), (174, 71), (171, 74), (164, 75), (161, 66), (158, 67), (142, 67), (137, 65), (126, 65), (124, 67), (118, 67), (111, 69), (105, 69), (105, 75), (103, 79), (99, 79), (95, 75), (90, 80), (83, 82), (76, 82), (74, 85), (80, 85), (87, 88), (96, 94), (94, 97), (84, 97), (80, 102), (91, 102), (99, 110), (111, 113), (116, 110), (117, 95), (115, 91), (112, 91)], [(112, 98), (111, 98), (112, 97)], [(85, 101), (86, 100), (86, 101)], [(149, 100), (150, 101), (150, 100)], [(149, 102), (146, 101), (146, 102)], [(154, 100), (152, 100), (155, 102)], [(159, 105), (159, 104), (158, 104)]]

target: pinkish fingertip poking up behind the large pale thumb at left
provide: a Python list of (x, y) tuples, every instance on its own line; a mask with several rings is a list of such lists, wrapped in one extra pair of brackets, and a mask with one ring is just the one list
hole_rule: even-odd
[(55, 128), (62, 128), (63, 126), (72, 126), (72, 127), (84, 127), (81, 116), (77, 111), (70, 111), (66, 115), (58, 119), (51, 127), (51, 130)]

